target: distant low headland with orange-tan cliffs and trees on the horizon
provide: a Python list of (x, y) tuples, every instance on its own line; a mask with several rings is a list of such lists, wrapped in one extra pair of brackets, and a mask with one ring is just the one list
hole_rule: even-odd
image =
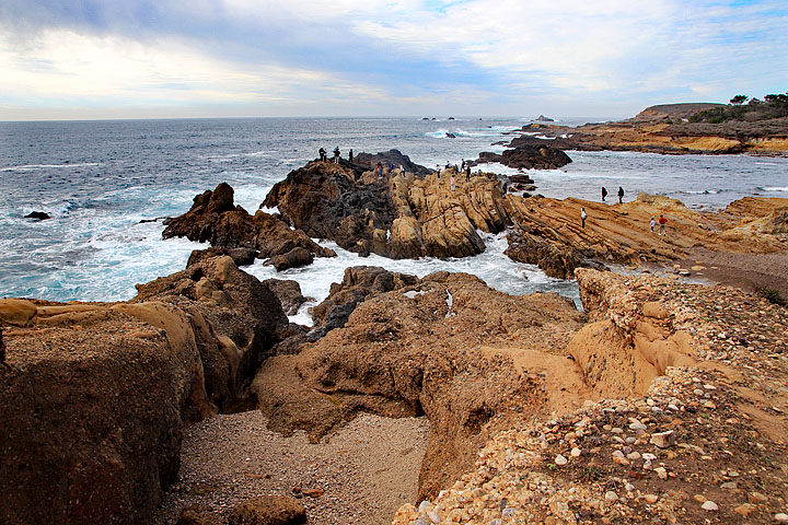
[[(738, 95), (731, 104), (662, 104), (634, 118), (579, 127), (534, 122), (511, 147), (551, 145), (580, 151), (761, 153), (788, 151), (788, 94), (763, 101)], [(544, 120), (542, 116), (537, 120)], [(535, 136), (538, 136), (536, 138)]]

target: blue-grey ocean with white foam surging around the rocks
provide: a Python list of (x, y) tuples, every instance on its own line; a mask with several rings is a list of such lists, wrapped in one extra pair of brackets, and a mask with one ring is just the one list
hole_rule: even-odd
[[(581, 124), (583, 119), (575, 119)], [(227, 182), (235, 202), (254, 213), (287, 174), (339, 147), (344, 158), (392, 148), (434, 167), (480, 151), (530, 120), (501, 118), (255, 118), (0, 122), (0, 296), (50, 301), (123, 301), (135, 284), (183, 269), (186, 240), (161, 238), (161, 220), (186, 212), (195, 195)], [(567, 124), (567, 122), (561, 122)], [(450, 137), (453, 135), (454, 137)], [(662, 194), (690, 207), (723, 208), (744, 196), (788, 197), (788, 159), (568, 152), (561, 170), (535, 171), (537, 192), (596, 200), (623, 186), (625, 200)], [(511, 173), (500, 165), (485, 170)], [(609, 200), (612, 200), (609, 198)], [(53, 219), (24, 219), (45, 211)], [(359, 258), (333, 243), (339, 257), (277, 273), (262, 260), (246, 270), (260, 279), (296, 279), (304, 295), (325, 299), (355, 265), (427, 275), (467, 271), (513, 294), (553, 291), (577, 301), (573, 282), (546, 277), (502, 255), (503, 235), (486, 236), (484, 254), (466, 259)], [(314, 304), (314, 303), (312, 303)], [(296, 320), (309, 323), (305, 308)]]

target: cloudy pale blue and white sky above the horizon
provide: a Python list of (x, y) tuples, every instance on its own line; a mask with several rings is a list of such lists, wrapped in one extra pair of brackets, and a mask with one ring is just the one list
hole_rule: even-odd
[(1, 0), (0, 120), (593, 116), (788, 91), (788, 0)]

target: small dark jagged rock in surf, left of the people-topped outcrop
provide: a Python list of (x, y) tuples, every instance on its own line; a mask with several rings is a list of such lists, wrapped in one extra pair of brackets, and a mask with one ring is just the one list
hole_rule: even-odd
[(233, 206), (233, 189), (227, 183), (196, 196), (188, 212), (164, 223), (164, 238), (186, 237), (229, 250), (254, 249), (258, 252), (257, 257), (264, 259), (286, 255), (294, 248), (303, 248), (317, 257), (336, 255), (269, 213), (257, 211), (252, 217), (242, 207)]

